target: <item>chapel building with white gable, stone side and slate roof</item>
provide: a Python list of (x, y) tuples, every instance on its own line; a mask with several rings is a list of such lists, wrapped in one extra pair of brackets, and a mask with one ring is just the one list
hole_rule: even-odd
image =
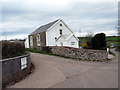
[(60, 19), (43, 25), (29, 35), (30, 48), (40, 46), (79, 47), (79, 39)]

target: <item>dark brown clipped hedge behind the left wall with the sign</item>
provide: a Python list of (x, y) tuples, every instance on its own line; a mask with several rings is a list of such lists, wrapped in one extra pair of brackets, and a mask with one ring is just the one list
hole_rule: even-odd
[(20, 56), (25, 53), (23, 42), (1, 41), (2, 43), (2, 59)]

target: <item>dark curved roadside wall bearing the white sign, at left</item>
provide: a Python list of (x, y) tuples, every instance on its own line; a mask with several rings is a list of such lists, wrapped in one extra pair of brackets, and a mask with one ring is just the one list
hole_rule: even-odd
[[(21, 69), (21, 59), (26, 58), (27, 67)], [(10, 83), (16, 83), (23, 79), (31, 69), (30, 55), (26, 54), (23, 56), (18, 56), (14, 58), (3, 59), (0, 61), (2, 65), (2, 87)]]

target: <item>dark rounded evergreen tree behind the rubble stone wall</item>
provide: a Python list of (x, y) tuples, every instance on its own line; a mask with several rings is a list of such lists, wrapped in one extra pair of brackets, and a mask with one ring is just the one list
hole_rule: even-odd
[(106, 35), (104, 33), (96, 34), (91, 41), (93, 49), (106, 50)]

